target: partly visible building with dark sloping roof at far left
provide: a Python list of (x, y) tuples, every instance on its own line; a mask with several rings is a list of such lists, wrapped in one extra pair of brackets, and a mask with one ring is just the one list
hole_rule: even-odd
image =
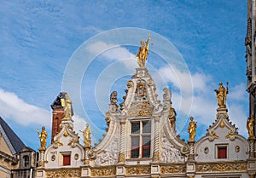
[(0, 118), (0, 178), (35, 177), (37, 154)]

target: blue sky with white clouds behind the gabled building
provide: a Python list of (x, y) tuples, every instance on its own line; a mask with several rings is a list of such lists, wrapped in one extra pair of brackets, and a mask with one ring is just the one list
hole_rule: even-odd
[[(213, 90), (218, 89), (219, 82), (229, 81), (230, 120), (239, 126), (241, 135), (247, 136), (246, 2), (44, 0), (0, 3), (0, 116), (27, 146), (37, 149), (39, 141), (35, 130), (42, 125), (50, 133), (50, 104), (62, 90), (62, 81), (65, 85), (65, 73), (76, 53), (86, 42), (101, 36), (99, 34), (108, 34), (113, 29), (123, 32), (124, 27), (142, 31), (136, 35), (127, 33), (122, 39), (132, 38), (137, 45), (112, 43), (111, 40), (87, 43), (88, 51), (96, 53), (96, 57), (84, 69), (83, 76), (79, 76), (82, 78), (79, 81), (82, 106), (77, 106), (77, 96), (70, 95), (73, 105), (77, 106), (74, 107), (76, 130), (83, 129), (85, 122), (89, 122), (97, 125), (92, 126), (94, 141), (101, 137), (106, 127), (104, 114), (108, 111), (109, 94), (118, 90), (119, 99), (125, 95), (125, 83), (135, 72), (136, 61), (132, 59), (139, 42), (151, 32), (154, 45), (150, 49), (160, 48), (162, 44), (157, 43), (156, 37), (164, 37), (174, 46), (170, 50), (177, 50), (188, 67), (183, 72), (170, 64), (173, 65), (170, 70), (165, 58), (149, 52), (147, 65), (158, 84), (158, 94), (161, 95), (164, 87), (172, 89), (173, 106), (179, 112), (180, 135), (188, 136), (186, 124), (190, 115), (198, 122), (196, 138), (205, 135), (208, 125), (215, 120), (217, 109)], [(106, 48), (108, 50), (103, 51)], [(88, 60), (84, 58), (85, 63)], [(131, 60), (133, 62), (127, 62)], [(119, 68), (115, 65), (125, 66), (121, 68), (124, 70), (114, 70)], [(180, 92), (189, 92), (186, 85), (180, 89), (180, 83), (187, 83), (188, 78), (194, 89), (192, 106), (184, 102), (180, 108), (181, 100), (190, 100)], [(112, 83), (104, 85), (109, 81)]]

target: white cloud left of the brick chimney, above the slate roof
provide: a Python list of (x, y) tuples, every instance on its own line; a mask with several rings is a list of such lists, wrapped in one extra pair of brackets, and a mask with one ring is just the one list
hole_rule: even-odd
[(50, 126), (50, 112), (21, 100), (14, 93), (0, 89), (0, 115), (23, 126), (40, 124)]

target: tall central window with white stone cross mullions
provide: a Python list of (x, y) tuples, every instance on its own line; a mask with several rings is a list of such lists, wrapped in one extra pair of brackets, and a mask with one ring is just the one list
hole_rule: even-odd
[(131, 122), (131, 158), (149, 158), (151, 145), (151, 122)]

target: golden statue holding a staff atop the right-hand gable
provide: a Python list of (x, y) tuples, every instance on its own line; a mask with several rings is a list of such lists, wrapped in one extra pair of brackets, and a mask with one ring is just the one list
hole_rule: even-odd
[(219, 89), (214, 89), (217, 95), (218, 108), (226, 108), (227, 94), (229, 93), (229, 83), (227, 82), (227, 89), (224, 88), (222, 83), (219, 83)]

